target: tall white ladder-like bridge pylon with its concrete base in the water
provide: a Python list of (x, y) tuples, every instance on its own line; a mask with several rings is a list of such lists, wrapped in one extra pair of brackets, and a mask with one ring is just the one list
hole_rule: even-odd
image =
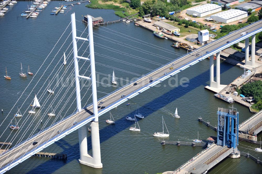
[[(72, 38), (73, 38), (73, 53), (74, 53), (74, 67), (75, 67), (75, 86), (76, 86), (76, 100), (77, 110), (80, 112), (81, 108), (81, 96), (80, 96), (80, 84), (79, 78), (85, 78), (90, 80), (90, 77), (80, 76), (78, 69), (78, 59), (90, 60), (91, 67), (91, 82), (92, 82), (92, 99), (93, 99), (93, 113), (95, 116), (94, 121), (91, 123), (91, 141), (92, 141), (92, 156), (87, 152), (87, 131), (86, 126), (82, 126), (78, 129), (79, 137), (79, 151), (81, 164), (94, 167), (102, 168), (101, 154), (100, 154), (100, 139), (99, 139), (99, 125), (98, 125), (98, 110), (97, 110), (97, 95), (96, 95), (96, 75), (95, 75), (95, 55), (94, 55), (94, 40), (93, 40), (93, 24), (92, 17), (88, 15), (88, 39), (77, 37), (76, 26), (75, 26), (75, 13), (71, 14), (71, 25), (72, 25)], [(77, 53), (77, 41), (83, 40), (89, 42), (89, 58), (80, 57)]]

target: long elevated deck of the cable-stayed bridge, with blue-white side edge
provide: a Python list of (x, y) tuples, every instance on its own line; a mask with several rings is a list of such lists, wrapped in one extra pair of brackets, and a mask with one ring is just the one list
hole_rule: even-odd
[[(243, 31), (248, 32), (248, 34), (241, 36), (240, 33)], [(229, 35), (200, 47), (196, 51), (190, 52), (166, 65), (161, 66), (160, 68), (146, 74), (145, 76), (138, 78), (132, 83), (125, 85), (124, 87), (119, 88), (111, 94), (99, 99), (98, 102), (103, 101), (103, 105), (106, 106), (105, 109), (99, 111), (99, 115), (106, 113), (110, 109), (120, 105), (121, 103), (160, 83), (170, 76), (173, 76), (178, 72), (198, 63), (204, 58), (260, 31), (262, 31), (262, 21), (253, 23), (247, 27), (237, 30), (234, 33), (230, 33)], [(226, 43), (228, 40), (231, 42)], [(198, 51), (203, 53), (203, 57), (195, 56), (196, 52)], [(206, 51), (208, 51), (208, 53), (205, 53)], [(173, 63), (173, 69), (169, 69)], [(165, 72), (168, 74), (163, 75)], [(149, 77), (152, 77), (152, 80), (154, 81), (149, 83)], [(134, 82), (136, 82), (137, 85), (133, 86)], [(125, 95), (126, 97), (120, 98), (122, 95)], [(19, 143), (15, 147), (9, 149), (7, 152), (2, 153), (0, 156), (0, 173), (6, 172), (36, 152), (41, 151), (43, 148), (92, 121), (94, 119), (92, 110), (92, 105), (89, 105), (85, 110), (80, 111), (80, 113), (74, 113), (64, 118), (49, 128), (46, 128), (45, 130), (32, 136), (28, 140)], [(77, 125), (73, 125), (75, 121), (78, 121), (79, 123)], [(57, 133), (59, 130), (62, 131), (60, 134)], [(34, 141), (37, 141), (38, 143), (36, 145), (32, 145)]]

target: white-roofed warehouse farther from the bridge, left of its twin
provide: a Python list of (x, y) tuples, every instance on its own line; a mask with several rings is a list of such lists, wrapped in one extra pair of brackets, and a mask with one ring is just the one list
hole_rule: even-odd
[(204, 4), (187, 10), (187, 14), (203, 17), (212, 13), (220, 12), (222, 7), (216, 4)]

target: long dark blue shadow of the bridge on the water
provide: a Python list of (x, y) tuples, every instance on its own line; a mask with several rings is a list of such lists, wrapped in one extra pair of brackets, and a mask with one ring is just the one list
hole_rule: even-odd
[[(223, 72), (231, 69), (233, 65), (230, 65), (228, 63), (222, 62), (220, 66), (220, 73), (222, 74)], [(214, 67), (214, 74), (215, 74), (216, 67)], [(144, 117), (147, 117), (148, 115), (154, 113), (156, 110), (161, 109), (162, 107), (166, 106), (167, 104), (173, 102), (174, 100), (184, 96), (188, 92), (194, 90), (195, 88), (198, 88), (200, 86), (206, 86), (207, 82), (209, 82), (209, 70), (199, 74), (198, 76), (190, 79), (190, 83), (188, 87), (182, 87), (178, 86), (175, 88), (172, 88), (170, 91), (166, 92), (165, 94), (161, 95), (158, 98), (153, 99), (152, 101), (146, 103), (143, 106), (143, 110), (145, 110), (145, 114), (143, 114)], [(170, 97), (170, 94), (173, 94), (172, 97)], [(165, 100), (165, 102), (159, 102), (160, 100)], [(151, 109), (154, 108), (154, 109)], [(134, 112), (134, 111), (132, 111)], [(100, 143), (105, 142), (107, 139), (115, 136), (119, 132), (125, 130), (126, 128), (130, 127), (131, 125), (134, 124), (132, 121), (127, 121), (125, 119), (126, 116), (130, 115), (127, 114), (123, 116), (121, 119), (116, 121), (115, 125), (108, 125), (104, 128), (102, 128), (99, 133), (100, 133)], [(111, 129), (110, 127), (114, 127), (114, 129)], [(76, 137), (78, 138), (78, 136)], [(67, 157), (66, 161), (59, 162), (60, 160), (56, 160), (55, 165), (53, 160), (47, 160), (46, 162), (41, 163), (40, 165), (35, 164), (33, 169), (28, 171), (27, 173), (45, 173), (45, 174), (51, 174), (58, 170), (59, 168), (63, 167), (65, 164), (73, 161), (73, 160), (78, 160), (79, 159), (79, 144), (73, 144), (70, 145), (67, 141), (64, 139), (59, 140), (58, 142), (55, 142), (56, 145), (58, 145), (60, 148), (63, 149), (61, 153), (64, 154), (70, 154)], [(91, 137), (88, 137), (88, 150), (91, 149)], [(73, 153), (76, 152), (76, 153)], [(34, 157), (37, 158), (37, 157)], [(20, 164), (21, 165), (21, 164)], [(81, 165), (81, 164), (79, 164)], [(54, 167), (47, 167), (47, 166), (54, 166)], [(87, 170), (88, 168), (80, 167), (81, 171)], [(12, 171), (11, 169), (10, 171)], [(96, 174), (102, 173), (102, 169), (95, 169), (93, 170)], [(11, 172), (10, 172), (11, 173)], [(66, 171), (65, 171), (66, 173)], [(84, 173), (84, 172), (83, 172)]]

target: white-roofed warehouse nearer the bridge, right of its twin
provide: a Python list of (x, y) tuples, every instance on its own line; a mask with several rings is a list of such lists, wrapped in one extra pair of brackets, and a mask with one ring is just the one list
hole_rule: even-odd
[(247, 12), (237, 9), (230, 9), (210, 16), (215, 21), (222, 23), (231, 23), (247, 17)]

